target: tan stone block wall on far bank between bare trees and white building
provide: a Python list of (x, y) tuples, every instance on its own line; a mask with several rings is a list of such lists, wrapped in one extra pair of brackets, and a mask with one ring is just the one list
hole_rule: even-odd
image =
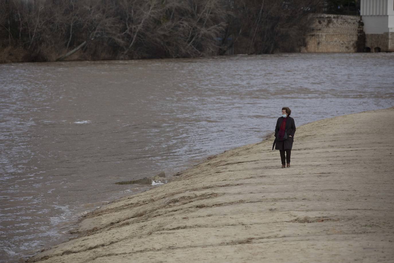
[(357, 52), (364, 50), (361, 18), (350, 15), (315, 14), (313, 31), (304, 52)]

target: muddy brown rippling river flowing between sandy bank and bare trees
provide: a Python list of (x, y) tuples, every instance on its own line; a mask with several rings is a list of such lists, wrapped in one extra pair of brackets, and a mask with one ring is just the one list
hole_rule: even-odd
[(150, 188), (115, 182), (261, 141), (282, 106), (296, 125), (393, 106), (393, 70), (393, 53), (0, 65), (0, 258)]

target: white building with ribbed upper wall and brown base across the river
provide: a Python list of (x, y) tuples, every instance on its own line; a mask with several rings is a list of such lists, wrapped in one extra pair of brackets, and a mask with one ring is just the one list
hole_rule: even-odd
[(394, 0), (361, 0), (361, 16), (371, 52), (394, 52)]

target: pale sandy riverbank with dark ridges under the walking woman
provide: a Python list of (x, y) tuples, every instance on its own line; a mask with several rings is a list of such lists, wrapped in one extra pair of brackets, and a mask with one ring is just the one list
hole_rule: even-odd
[(29, 261), (394, 262), (393, 123), (394, 107), (297, 127), (291, 168), (273, 137), (226, 151)]

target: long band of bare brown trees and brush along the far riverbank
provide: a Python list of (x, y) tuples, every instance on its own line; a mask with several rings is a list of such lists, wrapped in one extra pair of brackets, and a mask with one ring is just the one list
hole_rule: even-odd
[(319, 0), (2, 0), (0, 62), (292, 52)]

